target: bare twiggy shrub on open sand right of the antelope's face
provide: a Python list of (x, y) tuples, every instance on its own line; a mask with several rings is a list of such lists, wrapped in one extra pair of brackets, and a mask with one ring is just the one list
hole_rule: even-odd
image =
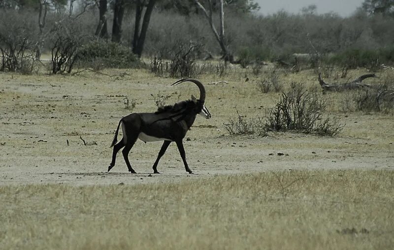
[(309, 93), (302, 84), (292, 84), (292, 90), (282, 93), (275, 108), (269, 111), (265, 128), (272, 131), (296, 131), (319, 135), (336, 135), (343, 125), (325, 115), (327, 103)]

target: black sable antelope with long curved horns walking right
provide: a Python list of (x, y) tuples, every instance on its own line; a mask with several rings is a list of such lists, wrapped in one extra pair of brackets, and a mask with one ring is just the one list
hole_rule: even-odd
[[(125, 147), (122, 150), (123, 157), (129, 171), (135, 174), (135, 171), (131, 167), (129, 161), (129, 152), (135, 141), (140, 139), (145, 143), (164, 141), (159, 155), (153, 164), (153, 171), (155, 174), (159, 174), (157, 171), (157, 164), (171, 142), (176, 143), (186, 171), (190, 174), (193, 173), (186, 162), (186, 154), (182, 140), (185, 137), (186, 132), (193, 125), (197, 114), (205, 117), (206, 119), (211, 118), (211, 114), (204, 105), (204, 86), (195, 79), (181, 79), (171, 84), (171, 86), (183, 82), (192, 82), (198, 86), (200, 90), (199, 99), (192, 95), (191, 100), (181, 101), (174, 105), (161, 107), (155, 113), (132, 113), (123, 117), (119, 121), (118, 128), (116, 129), (115, 136), (111, 144), (111, 147), (113, 146), (114, 150), (112, 153), (112, 161), (108, 166), (108, 172), (115, 166), (116, 154), (118, 151)], [(119, 143), (117, 143), (120, 126), (122, 126), (123, 138)]]

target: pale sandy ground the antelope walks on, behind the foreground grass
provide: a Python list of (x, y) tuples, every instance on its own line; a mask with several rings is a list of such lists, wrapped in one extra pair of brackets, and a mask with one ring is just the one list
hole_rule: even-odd
[[(197, 117), (187, 134), (190, 140), (184, 140), (195, 174), (186, 173), (174, 144), (159, 163), (162, 174), (151, 174), (161, 142), (142, 141), (129, 156), (138, 174), (127, 172), (121, 153), (107, 173), (114, 130), (119, 119), (131, 112), (125, 108), (127, 98), (136, 101), (133, 112), (150, 112), (156, 110), (159, 95), (170, 95), (167, 104), (198, 95), (192, 84), (170, 87), (175, 79), (154, 78), (141, 70), (123, 72), (76, 76), (1, 73), (0, 185), (164, 183), (268, 170), (394, 169), (392, 114), (340, 113), (346, 125), (336, 137), (227, 135), (223, 123), (235, 114), (235, 106), (252, 117), (261, 114), (260, 107), (272, 106), (278, 96), (258, 93), (252, 83), (239, 84), (241, 77), (235, 76), (226, 79), (227, 85), (206, 85), (206, 106), (212, 118)], [(215, 80), (220, 79), (202, 78), (204, 83)]]

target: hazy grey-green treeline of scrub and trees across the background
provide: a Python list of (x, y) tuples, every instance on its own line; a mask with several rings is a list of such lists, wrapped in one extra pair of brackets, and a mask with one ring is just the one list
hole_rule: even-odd
[[(123, 1), (119, 32), (114, 31), (114, 20), (118, 20), (114, 19), (114, 14), (119, 15), (116, 13), (118, 0), (2, 0), (0, 69), (17, 70), (23, 67), (24, 61), (26, 63), (30, 58), (33, 60), (41, 53), (52, 53), (53, 61), (56, 60), (53, 54), (59, 53), (61, 57), (62, 50), (67, 50), (66, 54), (69, 54), (68, 58), (63, 59), (68, 64), (100, 55), (116, 57), (117, 53), (121, 53), (122, 58), (133, 61), (135, 58), (128, 54), (128, 48), (133, 47), (136, 39), (136, 8), (139, 3), (141, 24), (138, 29), (141, 29), (145, 22), (144, 14), (151, 1)], [(207, 19), (194, 0), (153, 2), (146, 37), (142, 41), (142, 57), (160, 56), (161, 59), (171, 59), (180, 47), (192, 46), (191, 44), (198, 47), (195, 56), (199, 59), (223, 56)], [(212, 4), (214, 23), (219, 23), (219, 10), (215, 4), (219, 1), (200, 2)], [(106, 11), (102, 12), (104, 3)], [(365, 0), (349, 17), (341, 17), (332, 12), (317, 14), (314, 5), (302, 8), (297, 14), (278, 11), (272, 15), (258, 14), (260, 7), (264, 8), (252, 0), (224, 1), (224, 40), (236, 61), (243, 66), (263, 61), (294, 64), (295, 53), (308, 54), (312, 58), (309, 59), (312, 64), (314, 56), (349, 67), (373, 67), (394, 62), (392, 0)], [(117, 32), (115, 39), (113, 32)], [(67, 39), (70, 41), (68, 45), (60, 44)], [(96, 44), (92, 45), (94, 40)], [(111, 40), (120, 44), (120, 48), (111, 45)], [(75, 48), (68, 51), (70, 47)], [(18, 57), (25, 59), (21, 60), (20, 65), (10, 66), (12, 62), (6, 59), (8, 54), (14, 54), (10, 56), (11, 61)], [(67, 62), (71, 60), (72, 62)], [(58, 71), (70, 71), (67, 69), (70, 65), (64, 63), (60, 67), (57, 65)], [(113, 60), (109, 66), (130, 65), (122, 65), (119, 60)], [(69, 69), (71, 68), (72, 65)], [(53, 72), (57, 72), (55, 67)]]

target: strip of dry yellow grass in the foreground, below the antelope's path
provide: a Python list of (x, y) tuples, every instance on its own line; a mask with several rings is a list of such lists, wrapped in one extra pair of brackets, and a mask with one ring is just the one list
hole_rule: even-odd
[(394, 171), (0, 187), (0, 249), (390, 249)]

